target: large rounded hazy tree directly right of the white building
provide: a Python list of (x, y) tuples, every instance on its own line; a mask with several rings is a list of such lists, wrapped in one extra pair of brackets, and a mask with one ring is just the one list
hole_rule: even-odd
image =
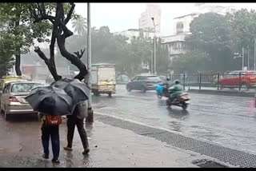
[(186, 41), (190, 43), (192, 50), (206, 52), (210, 56), (210, 62), (206, 63), (208, 70), (231, 70), (233, 54), (230, 49), (231, 28), (223, 15), (206, 13), (200, 14), (190, 23), (190, 37)]

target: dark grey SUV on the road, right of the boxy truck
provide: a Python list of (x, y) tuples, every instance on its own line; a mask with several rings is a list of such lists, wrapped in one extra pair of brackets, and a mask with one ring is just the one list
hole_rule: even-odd
[(146, 90), (155, 90), (160, 83), (162, 83), (162, 80), (157, 75), (140, 74), (126, 84), (126, 89), (129, 92), (135, 89), (146, 93)]

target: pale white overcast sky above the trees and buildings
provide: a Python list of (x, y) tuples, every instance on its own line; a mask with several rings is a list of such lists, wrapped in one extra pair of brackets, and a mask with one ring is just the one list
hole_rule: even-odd
[[(197, 10), (194, 3), (159, 3), (162, 36), (173, 34), (173, 18)], [(256, 3), (215, 3), (220, 6), (234, 6), (237, 9), (256, 9)], [(76, 3), (75, 11), (86, 18), (86, 3)], [(91, 26), (109, 26), (111, 32), (137, 29), (138, 18), (146, 10), (146, 3), (91, 3)], [(70, 25), (69, 25), (70, 26)], [(69, 27), (70, 28), (70, 27)]]

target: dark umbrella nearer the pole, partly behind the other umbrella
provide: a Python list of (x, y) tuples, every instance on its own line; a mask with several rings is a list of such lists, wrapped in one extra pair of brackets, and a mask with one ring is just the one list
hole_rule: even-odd
[(90, 93), (90, 88), (78, 79), (64, 78), (60, 81), (53, 82), (51, 86), (64, 89), (72, 97), (74, 105), (77, 105), (81, 101), (86, 101)]

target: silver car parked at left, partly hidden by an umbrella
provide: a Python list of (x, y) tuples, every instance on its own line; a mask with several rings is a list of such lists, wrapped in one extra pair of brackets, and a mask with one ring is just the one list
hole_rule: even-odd
[(1, 96), (1, 113), (6, 120), (14, 114), (37, 113), (25, 100), (26, 95), (36, 87), (43, 86), (36, 82), (10, 82), (6, 84)]

